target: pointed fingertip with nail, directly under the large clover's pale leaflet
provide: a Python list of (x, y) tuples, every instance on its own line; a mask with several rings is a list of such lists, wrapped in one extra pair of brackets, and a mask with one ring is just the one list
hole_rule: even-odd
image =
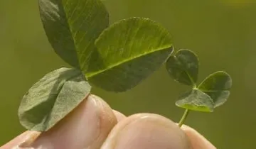
[(41, 133), (31, 146), (48, 149), (100, 148), (116, 123), (117, 118), (110, 106), (100, 97), (90, 95), (60, 123)]

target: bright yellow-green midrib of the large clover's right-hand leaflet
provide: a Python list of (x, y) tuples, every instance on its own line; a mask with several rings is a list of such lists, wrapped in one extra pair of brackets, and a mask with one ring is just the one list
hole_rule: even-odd
[[(121, 60), (119, 62), (116, 62), (116, 63), (110, 65), (109, 67), (106, 67), (104, 70), (99, 70), (97, 72), (90, 72), (90, 73), (85, 74), (85, 76), (87, 77), (87, 79), (89, 79), (90, 77), (94, 77), (95, 75), (99, 75), (102, 72), (106, 72), (108, 70), (111, 70), (112, 68), (117, 67), (119, 65), (122, 65), (123, 63), (129, 62), (129, 61), (137, 59), (139, 57), (143, 57), (145, 55), (149, 55), (151, 53), (159, 52), (161, 50), (169, 50), (169, 48), (171, 48), (171, 47), (172, 47), (172, 44), (171, 45), (166, 45), (163, 48), (156, 48), (156, 50), (149, 51), (149, 53), (143, 53), (143, 54), (140, 54), (140, 55), (136, 55), (134, 57), (129, 57), (129, 58), (125, 59), (125, 60)], [(172, 53), (172, 51), (170, 52), (170, 54), (171, 53)]]

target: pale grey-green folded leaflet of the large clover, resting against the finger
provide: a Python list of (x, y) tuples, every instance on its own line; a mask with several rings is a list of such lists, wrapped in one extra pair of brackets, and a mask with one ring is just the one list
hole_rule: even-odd
[(21, 100), (18, 117), (22, 126), (47, 131), (78, 106), (90, 89), (79, 70), (60, 68), (48, 73)]

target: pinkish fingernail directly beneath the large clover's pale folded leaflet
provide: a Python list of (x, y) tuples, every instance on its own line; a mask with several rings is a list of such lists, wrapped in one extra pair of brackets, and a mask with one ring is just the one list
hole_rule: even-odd
[(42, 133), (33, 143), (34, 148), (87, 148), (100, 133), (100, 114), (97, 101), (88, 96), (60, 123)]

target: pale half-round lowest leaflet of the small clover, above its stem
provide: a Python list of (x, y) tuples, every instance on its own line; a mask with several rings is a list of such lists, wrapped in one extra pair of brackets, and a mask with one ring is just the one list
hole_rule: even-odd
[(179, 97), (176, 106), (193, 111), (213, 112), (214, 104), (208, 94), (198, 89), (192, 89)]

